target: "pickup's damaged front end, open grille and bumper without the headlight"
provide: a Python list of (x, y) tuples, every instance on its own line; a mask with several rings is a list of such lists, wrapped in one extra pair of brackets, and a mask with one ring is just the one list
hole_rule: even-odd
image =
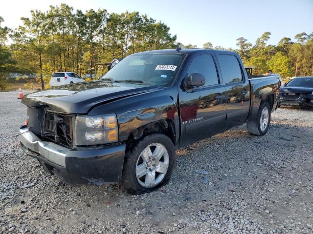
[(45, 171), (73, 186), (120, 180), (125, 143), (77, 146), (73, 137), (76, 115), (56, 112), (48, 105), (28, 107), (27, 115), (27, 126), (20, 129), (21, 147)]

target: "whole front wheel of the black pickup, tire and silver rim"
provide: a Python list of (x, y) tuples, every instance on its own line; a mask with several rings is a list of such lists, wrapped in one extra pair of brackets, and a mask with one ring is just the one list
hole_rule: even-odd
[(175, 163), (172, 140), (163, 134), (147, 135), (126, 153), (121, 185), (133, 195), (152, 192), (169, 182)]

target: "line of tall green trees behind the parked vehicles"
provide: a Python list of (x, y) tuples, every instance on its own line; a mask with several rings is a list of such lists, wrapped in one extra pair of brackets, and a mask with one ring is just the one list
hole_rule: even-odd
[[(176, 35), (161, 21), (138, 12), (108, 13), (105, 9), (86, 12), (67, 4), (50, 6), (45, 12), (32, 10), (30, 18), (12, 30), (1, 27), (0, 17), (0, 88), (5, 88), (8, 73), (38, 74), (37, 82), (45, 88), (53, 72), (73, 71), (90, 78), (101, 77), (113, 58), (145, 50), (196, 48), (177, 42)], [(238, 49), (202, 48), (237, 51), (255, 74), (271, 69), (283, 78), (313, 75), (313, 33), (295, 35), (296, 42), (283, 38), (278, 45), (267, 44), (270, 33), (264, 33), (254, 45), (241, 37)], [(10, 44), (6, 45), (9, 39)]]

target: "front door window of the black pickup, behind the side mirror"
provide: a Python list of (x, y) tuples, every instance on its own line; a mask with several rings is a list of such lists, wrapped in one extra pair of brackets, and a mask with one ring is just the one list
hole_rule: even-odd
[(188, 69), (188, 77), (193, 73), (200, 73), (204, 76), (204, 86), (219, 84), (215, 62), (211, 55), (198, 55)]

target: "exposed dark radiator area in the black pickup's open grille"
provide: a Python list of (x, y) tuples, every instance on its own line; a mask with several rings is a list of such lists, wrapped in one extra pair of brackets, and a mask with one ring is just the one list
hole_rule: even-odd
[(44, 127), (45, 138), (60, 145), (73, 147), (72, 115), (55, 113), (47, 110)]

